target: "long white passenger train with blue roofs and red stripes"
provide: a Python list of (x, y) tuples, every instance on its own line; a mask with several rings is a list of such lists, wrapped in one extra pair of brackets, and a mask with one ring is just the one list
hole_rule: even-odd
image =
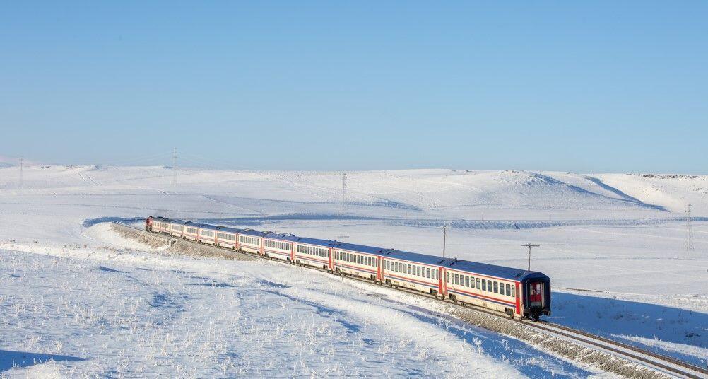
[(514, 319), (538, 320), (551, 314), (551, 280), (537, 271), (166, 217), (147, 217), (145, 230), (408, 288)]

